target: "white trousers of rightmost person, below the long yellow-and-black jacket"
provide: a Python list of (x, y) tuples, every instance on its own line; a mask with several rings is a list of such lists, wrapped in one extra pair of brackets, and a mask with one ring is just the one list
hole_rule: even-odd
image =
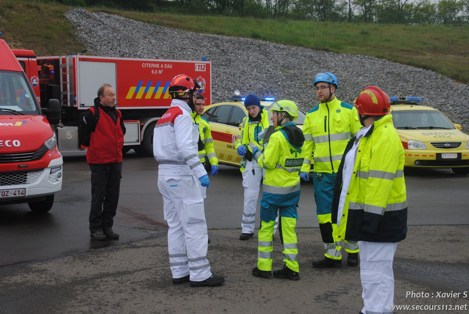
[(393, 259), (397, 242), (358, 241), (363, 314), (392, 314), (394, 305)]

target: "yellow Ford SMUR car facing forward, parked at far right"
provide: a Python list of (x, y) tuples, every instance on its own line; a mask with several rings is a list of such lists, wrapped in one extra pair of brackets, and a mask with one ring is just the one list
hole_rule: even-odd
[(390, 97), (394, 127), (405, 151), (406, 167), (451, 168), (469, 174), (469, 135), (439, 110), (420, 105), (420, 97)]

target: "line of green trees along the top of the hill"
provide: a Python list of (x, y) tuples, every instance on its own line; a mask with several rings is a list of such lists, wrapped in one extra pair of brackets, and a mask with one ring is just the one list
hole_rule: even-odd
[(288, 18), (319, 22), (469, 24), (469, 0), (55, 0), (142, 12)]

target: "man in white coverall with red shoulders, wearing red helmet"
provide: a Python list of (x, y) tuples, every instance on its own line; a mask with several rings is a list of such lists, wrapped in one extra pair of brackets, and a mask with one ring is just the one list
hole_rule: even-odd
[(190, 113), (194, 109), (199, 83), (178, 75), (169, 85), (171, 107), (161, 116), (153, 135), (153, 153), (159, 162), (158, 188), (163, 196), (168, 224), (169, 265), (173, 283), (190, 281), (191, 287), (216, 286), (225, 281), (212, 275), (207, 260), (207, 224), (202, 186), (210, 185), (197, 154), (198, 126)]

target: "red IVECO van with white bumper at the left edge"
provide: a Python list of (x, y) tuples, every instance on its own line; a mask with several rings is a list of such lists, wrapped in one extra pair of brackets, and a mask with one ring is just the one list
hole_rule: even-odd
[(33, 212), (47, 212), (62, 188), (53, 127), (61, 110), (58, 100), (39, 106), (37, 69), (32, 51), (15, 55), (0, 39), (0, 205), (28, 203)]

